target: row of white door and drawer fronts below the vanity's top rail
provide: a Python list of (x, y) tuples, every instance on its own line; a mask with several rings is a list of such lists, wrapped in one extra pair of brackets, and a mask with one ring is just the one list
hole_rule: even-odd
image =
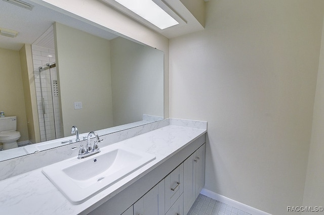
[(205, 185), (205, 150), (203, 144), (140, 198), (129, 214), (186, 215)]

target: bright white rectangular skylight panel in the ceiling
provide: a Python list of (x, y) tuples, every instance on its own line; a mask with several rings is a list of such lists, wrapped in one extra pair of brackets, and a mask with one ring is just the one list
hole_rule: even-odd
[(115, 0), (120, 5), (133, 11), (140, 17), (152, 23), (159, 29), (169, 28), (179, 24), (167, 12), (151, 0)]

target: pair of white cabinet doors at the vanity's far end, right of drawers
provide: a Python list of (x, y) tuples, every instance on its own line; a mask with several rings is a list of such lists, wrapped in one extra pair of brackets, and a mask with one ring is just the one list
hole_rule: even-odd
[(205, 185), (205, 149), (206, 144), (200, 146), (183, 163), (184, 190), (183, 210), (187, 214), (201, 189)]

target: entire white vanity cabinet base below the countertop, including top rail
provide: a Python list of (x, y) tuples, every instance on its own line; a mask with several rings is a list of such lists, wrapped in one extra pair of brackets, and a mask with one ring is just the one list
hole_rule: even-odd
[(205, 145), (201, 136), (89, 214), (186, 215), (205, 184)]

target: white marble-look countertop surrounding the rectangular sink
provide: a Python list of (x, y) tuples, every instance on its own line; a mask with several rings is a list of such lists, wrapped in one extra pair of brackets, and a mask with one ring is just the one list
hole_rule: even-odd
[(2, 214), (78, 214), (102, 199), (110, 199), (207, 132), (206, 122), (198, 122), (205, 123), (206, 128), (194, 123), (190, 127), (188, 122), (174, 120), (168, 126), (114, 143), (152, 153), (156, 158), (84, 203), (70, 203), (39, 168), (0, 181), (0, 211)]

